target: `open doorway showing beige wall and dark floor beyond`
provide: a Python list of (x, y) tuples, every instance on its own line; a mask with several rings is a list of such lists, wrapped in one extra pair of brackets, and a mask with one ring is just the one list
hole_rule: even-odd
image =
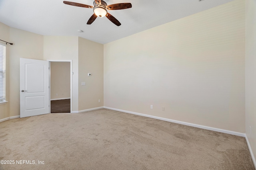
[(72, 112), (72, 61), (50, 61), (50, 113)]

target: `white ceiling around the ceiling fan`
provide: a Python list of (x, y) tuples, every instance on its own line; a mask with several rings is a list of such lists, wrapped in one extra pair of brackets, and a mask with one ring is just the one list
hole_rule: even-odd
[[(93, 6), (94, 0), (66, 0)], [(132, 8), (108, 10), (120, 21), (108, 18), (87, 21), (93, 9), (70, 6), (63, 0), (0, 0), (0, 22), (40, 35), (78, 36), (98, 43), (109, 43), (134, 33), (174, 21), (232, 0), (105, 0), (110, 4), (130, 2)], [(78, 29), (84, 31), (78, 33)]]

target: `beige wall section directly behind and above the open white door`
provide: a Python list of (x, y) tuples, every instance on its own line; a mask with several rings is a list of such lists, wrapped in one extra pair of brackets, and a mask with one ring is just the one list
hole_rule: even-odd
[(43, 59), (43, 36), (10, 27), (10, 116), (20, 115), (20, 58)]

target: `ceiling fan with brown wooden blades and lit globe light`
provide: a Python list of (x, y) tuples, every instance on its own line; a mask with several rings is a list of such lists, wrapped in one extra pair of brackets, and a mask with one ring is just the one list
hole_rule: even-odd
[(107, 10), (124, 10), (127, 8), (132, 8), (131, 3), (120, 3), (120, 4), (112, 4), (112, 5), (107, 5), (106, 2), (103, 0), (94, 0), (93, 6), (90, 5), (85, 5), (85, 4), (79, 4), (76, 2), (68, 2), (68, 1), (63, 1), (64, 4), (67, 5), (72, 5), (72, 6), (79, 6), (79, 7), (84, 7), (84, 8), (93, 8), (94, 14), (91, 16), (91, 18), (88, 20), (87, 24), (93, 23), (94, 20), (96, 20), (97, 17), (104, 17), (106, 16), (108, 20), (110, 20), (112, 23), (116, 24), (117, 26), (120, 26), (121, 23), (116, 20), (111, 14), (108, 13)]

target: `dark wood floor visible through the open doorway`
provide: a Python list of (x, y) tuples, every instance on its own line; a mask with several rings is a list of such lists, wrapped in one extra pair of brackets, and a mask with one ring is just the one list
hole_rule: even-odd
[(51, 113), (70, 113), (70, 99), (52, 100)]

